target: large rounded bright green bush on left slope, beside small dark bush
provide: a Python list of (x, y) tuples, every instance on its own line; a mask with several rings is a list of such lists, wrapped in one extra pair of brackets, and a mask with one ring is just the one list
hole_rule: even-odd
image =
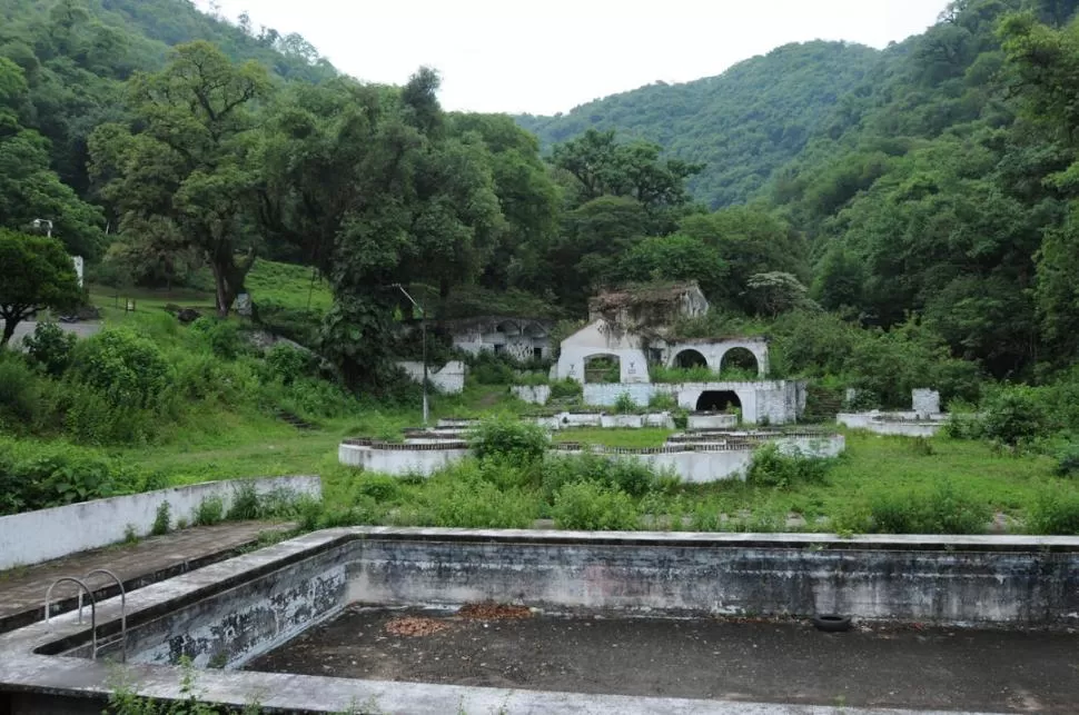
[(117, 407), (150, 407), (169, 384), (169, 364), (161, 350), (126, 328), (83, 340), (73, 363), (77, 378)]

